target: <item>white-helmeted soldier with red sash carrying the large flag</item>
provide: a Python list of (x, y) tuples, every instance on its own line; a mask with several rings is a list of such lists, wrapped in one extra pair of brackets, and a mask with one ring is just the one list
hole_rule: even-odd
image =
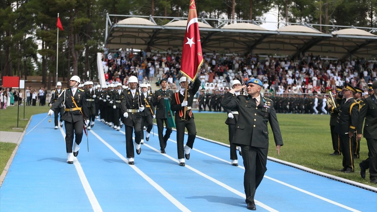
[[(190, 82), (190, 81), (189, 81)], [(177, 129), (177, 152), (179, 166), (185, 166), (185, 158), (190, 159), (190, 150), (192, 149), (196, 137), (196, 127), (194, 122), (194, 115), (192, 113), (191, 107), (193, 100), (195, 98), (196, 92), (200, 88), (200, 80), (197, 77), (194, 81), (193, 87), (187, 89), (187, 101), (185, 99), (185, 88), (189, 86), (186, 84), (186, 77), (181, 77), (179, 79), (179, 85), (181, 89), (173, 95), (172, 99), (172, 111), (175, 111), (175, 126)], [(186, 108), (186, 117), (184, 118), (184, 107)], [(185, 135), (185, 128), (187, 129), (188, 138), (187, 143), (183, 146), (183, 140)]]

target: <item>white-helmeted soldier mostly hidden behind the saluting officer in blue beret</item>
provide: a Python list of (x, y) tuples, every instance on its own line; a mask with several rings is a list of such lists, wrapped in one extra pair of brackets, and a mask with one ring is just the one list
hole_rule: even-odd
[[(237, 88), (241, 86), (241, 82), (239, 80), (233, 80), (232, 88)], [(233, 98), (237, 99), (240, 92), (234, 92)], [(229, 133), (229, 144), (230, 144), (230, 160), (232, 166), (238, 166), (238, 157), (237, 157), (237, 145), (232, 143), (234, 133), (236, 132), (236, 124), (238, 121), (238, 111), (237, 110), (228, 110), (228, 118), (225, 121), (225, 124), (228, 125), (228, 133)], [(239, 148), (241, 149), (241, 147)], [(240, 151), (240, 155), (241, 151)]]

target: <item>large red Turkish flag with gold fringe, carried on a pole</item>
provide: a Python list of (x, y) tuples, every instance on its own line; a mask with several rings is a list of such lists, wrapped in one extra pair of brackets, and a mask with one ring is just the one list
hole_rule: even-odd
[(190, 0), (189, 17), (182, 48), (181, 72), (194, 81), (203, 63), (202, 45), (199, 35), (198, 15), (195, 0)]

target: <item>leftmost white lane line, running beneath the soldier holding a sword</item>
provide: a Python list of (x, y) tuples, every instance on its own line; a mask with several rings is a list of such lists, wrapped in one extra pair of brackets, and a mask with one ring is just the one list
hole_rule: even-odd
[[(59, 127), (60, 128), (60, 127)], [(66, 134), (64, 133), (63, 129), (60, 128), (61, 135), (63, 135), (63, 138), (66, 138)], [(75, 141), (73, 141), (75, 142)], [(65, 143), (65, 142), (64, 142)], [(81, 184), (84, 187), (85, 193), (89, 199), (90, 204), (92, 205), (93, 211), (94, 212), (102, 212), (102, 208), (100, 206), (100, 203), (98, 203), (97, 198), (95, 197), (92, 187), (90, 187), (90, 184), (88, 182), (88, 179), (85, 176), (84, 170), (81, 167), (80, 162), (77, 160), (77, 158), (74, 158), (74, 163), (76, 171), (78, 176), (80, 177)]]

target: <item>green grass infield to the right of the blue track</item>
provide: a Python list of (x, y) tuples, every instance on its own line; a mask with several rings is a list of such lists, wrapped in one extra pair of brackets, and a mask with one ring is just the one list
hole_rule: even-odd
[[(228, 144), (228, 126), (224, 123), (226, 118), (227, 114), (222, 112), (218, 114), (196, 112), (195, 124), (198, 135)], [(277, 114), (284, 146), (281, 147), (280, 156), (278, 156), (273, 133), (268, 124), (270, 133), (268, 156), (377, 187), (376, 184), (369, 182), (368, 170), (366, 171), (365, 179), (360, 177), (359, 163), (368, 157), (365, 138), (361, 140), (360, 159), (354, 161), (355, 172), (345, 174), (337, 171), (343, 168), (343, 156), (330, 155), (334, 151), (331, 142), (329, 118), (329, 115)]]

